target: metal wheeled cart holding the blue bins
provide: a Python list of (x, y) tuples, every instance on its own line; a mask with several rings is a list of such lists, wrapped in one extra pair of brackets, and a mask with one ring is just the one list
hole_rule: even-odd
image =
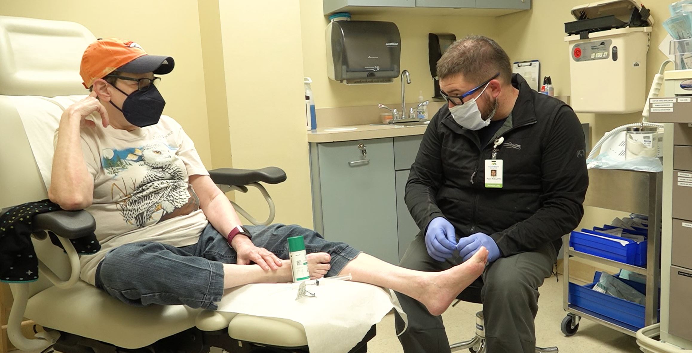
[(570, 235), (565, 236), (563, 308), (567, 316), (561, 324), (565, 336), (572, 336), (579, 329), (579, 320), (588, 318), (596, 323), (615, 329), (623, 334), (636, 336), (637, 332), (599, 318), (572, 305), (569, 299), (570, 256), (582, 257), (600, 264), (646, 275), (646, 302), (644, 325), (658, 322), (660, 259), (661, 259), (661, 208), (663, 172), (637, 172), (633, 170), (589, 170), (589, 189), (585, 206), (648, 215), (646, 268), (624, 264), (603, 257), (574, 251), (570, 248)]

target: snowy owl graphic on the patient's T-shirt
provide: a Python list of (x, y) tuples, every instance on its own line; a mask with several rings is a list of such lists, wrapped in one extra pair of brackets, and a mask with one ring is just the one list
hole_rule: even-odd
[(111, 197), (127, 224), (143, 228), (199, 209), (175, 152), (161, 142), (102, 151), (102, 167), (114, 180)]

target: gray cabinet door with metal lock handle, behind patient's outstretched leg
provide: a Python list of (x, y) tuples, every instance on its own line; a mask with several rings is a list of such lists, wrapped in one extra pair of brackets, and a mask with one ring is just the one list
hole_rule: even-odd
[(325, 239), (397, 264), (392, 138), (313, 144), (311, 165), (316, 230)]

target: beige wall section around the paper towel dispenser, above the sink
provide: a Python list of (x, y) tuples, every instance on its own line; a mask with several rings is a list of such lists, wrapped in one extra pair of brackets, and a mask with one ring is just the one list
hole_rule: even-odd
[[(312, 91), (318, 108), (351, 107), (401, 102), (401, 81), (391, 84), (347, 86), (327, 78), (325, 28), (322, 0), (301, 0), (302, 55), (304, 73), (312, 78)], [(428, 33), (497, 35), (495, 17), (457, 17), (421, 15), (354, 15), (354, 20), (392, 21), (401, 33), (401, 69), (411, 75), (406, 85), (406, 101), (417, 102), (420, 91), (432, 96), (432, 76), (428, 64)], [(394, 107), (390, 107), (394, 108)]]

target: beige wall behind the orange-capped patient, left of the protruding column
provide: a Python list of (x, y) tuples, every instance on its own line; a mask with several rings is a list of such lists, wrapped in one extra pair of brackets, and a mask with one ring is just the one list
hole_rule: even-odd
[(175, 69), (160, 86), (166, 100), (163, 113), (183, 125), (203, 163), (211, 167), (196, 1), (171, 6), (165, 0), (0, 0), (0, 15), (75, 21), (97, 38), (129, 39), (148, 53), (172, 56)]

